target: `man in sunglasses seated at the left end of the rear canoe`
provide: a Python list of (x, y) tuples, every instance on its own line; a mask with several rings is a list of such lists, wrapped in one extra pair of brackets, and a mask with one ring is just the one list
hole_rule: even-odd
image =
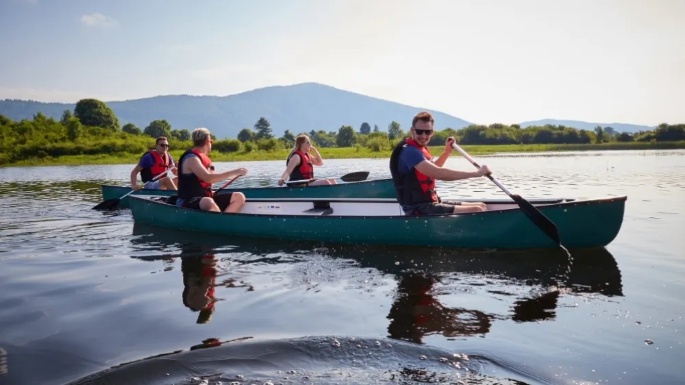
[(176, 171), (173, 158), (169, 151), (169, 140), (164, 136), (160, 136), (155, 140), (155, 149), (147, 151), (142, 154), (138, 164), (131, 171), (131, 186), (134, 191), (140, 190), (140, 188), (153, 189), (153, 190), (177, 190), (176, 182), (178, 177), (171, 179), (171, 176), (166, 175), (162, 179), (155, 180), (155, 182), (148, 183), (145, 186), (138, 186), (136, 179), (138, 179), (138, 173), (140, 173), (140, 179), (143, 183), (147, 183), (154, 179), (156, 176), (164, 173), (168, 169), (172, 169), (171, 173), (178, 175)]

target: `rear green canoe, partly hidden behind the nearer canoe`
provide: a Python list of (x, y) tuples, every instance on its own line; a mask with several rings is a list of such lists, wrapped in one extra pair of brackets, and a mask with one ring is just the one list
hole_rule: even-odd
[[(102, 200), (118, 199), (131, 191), (130, 187), (114, 186), (112, 184), (101, 185)], [(224, 188), (219, 194), (240, 191), (246, 198), (383, 198), (395, 199), (393, 179), (374, 179), (362, 182), (340, 183), (329, 186), (309, 187), (245, 187)], [(138, 190), (131, 195), (163, 196), (169, 197), (176, 193), (175, 190), (145, 189)], [(119, 208), (129, 208), (129, 195), (119, 202)]]

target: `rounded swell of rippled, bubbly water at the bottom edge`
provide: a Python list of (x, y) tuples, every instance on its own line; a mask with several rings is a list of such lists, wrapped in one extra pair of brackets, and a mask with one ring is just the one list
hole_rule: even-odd
[[(86, 384), (487, 384), (492, 360), (385, 338), (316, 336), (219, 343), (121, 364), (69, 385)], [(476, 378), (477, 377), (477, 378)], [(472, 382), (476, 380), (475, 382)], [(490, 378), (490, 383), (523, 384)]]

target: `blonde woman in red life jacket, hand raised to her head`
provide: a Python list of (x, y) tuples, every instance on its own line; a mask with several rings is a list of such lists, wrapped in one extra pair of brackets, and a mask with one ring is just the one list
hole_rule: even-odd
[(323, 166), (321, 154), (312, 147), (309, 136), (305, 134), (297, 136), (295, 138), (295, 147), (292, 148), (288, 158), (286, 158), (286, 171), (281, 175), (278, 185), (283, 186), (288, 176), (290, 176), (289, 180), (312, 180), (312, 182), (297, 184), (298, 187), (337, 184), (336, 179), (314, 180), (314, 166)]

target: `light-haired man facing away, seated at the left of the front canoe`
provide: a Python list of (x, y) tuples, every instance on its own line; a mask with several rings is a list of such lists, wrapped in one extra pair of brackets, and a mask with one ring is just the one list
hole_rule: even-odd
[(214, 194), (212, 183), (234, 175), (247, 175), (246, 169), (214, 173), (214, 164), (208, 157), (212, 151), (212, 134), (206, 128), (190, 133), (192, 149), (186, 150), (178, 160), (178, 198), (176, 206), (208, 211), (238, 212), (245, 204), (242, 192)]

